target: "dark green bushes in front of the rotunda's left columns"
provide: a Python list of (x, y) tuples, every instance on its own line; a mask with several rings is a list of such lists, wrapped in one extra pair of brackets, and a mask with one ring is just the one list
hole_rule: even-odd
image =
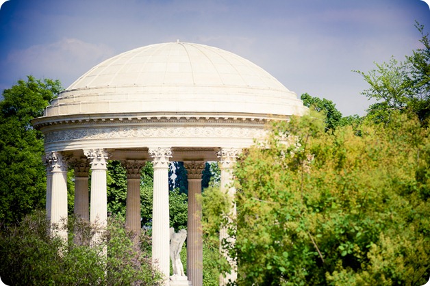
[[(71, 218), (89, 242), (94, 229)], [(47, 233), (45, 213), (25, 217), (0, 233), (0, 276), (7, 285), (160, 285), (147, 252), (134, 247), (118, 220), (110, 220), (101, 244), (77, 245)], [(107, 247), (108, 255), (103, 255)]]

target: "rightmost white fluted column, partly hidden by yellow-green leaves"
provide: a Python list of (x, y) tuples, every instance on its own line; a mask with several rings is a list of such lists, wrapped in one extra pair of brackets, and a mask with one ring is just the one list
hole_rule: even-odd
[[(218, 151), (217, 154), (220, 160), (219, 163), (221, 171), (220, 189), (221, 192), (227, 192), (231, 200), (233, 200), (234, 195), (236, 194), (236, 189), (233, 186), (233, 166), (236, 164), (236, 158), (241, 152), (242, 150), (238, 148), (223, 148)], [(231, 212), (227, 215), (230, 218), (236, 218), (236, 204), (232, 203)], [(223, 248), (221, 244), (223, 240), (234, 243), (233, 238), (229, 237), (227, 233), (227, 228), (220, 229), (220, 253), (221, 255), (225, 255), (232, 268), (231, 273), (227, 274), (226, 277), (223, 275), (220, 276), (220, 285), (227, 285), (229, 280), (236, 281), (238, 274), (236, 262), (233, 261), (231, 257), (228, 257), (227, 250)]]

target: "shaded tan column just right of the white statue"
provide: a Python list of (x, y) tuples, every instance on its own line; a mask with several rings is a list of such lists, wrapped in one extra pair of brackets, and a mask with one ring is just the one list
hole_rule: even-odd
[(203, 232), (201, 229), (201, 177), (205, 168), (203, 161), (184, 162), (188, 177), (188, 237), (187, 276), (193, 286), (203, 285)]

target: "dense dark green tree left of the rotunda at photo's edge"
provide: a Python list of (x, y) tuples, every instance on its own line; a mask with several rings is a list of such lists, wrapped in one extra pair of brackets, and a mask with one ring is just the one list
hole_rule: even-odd
[(20, 79), (3, 91), (0, 101), (0, 221), (21, 221), (27, 213), (45, 208), (46, 168), (42, 133), (31, 119), (62, 89), (60, 81)]

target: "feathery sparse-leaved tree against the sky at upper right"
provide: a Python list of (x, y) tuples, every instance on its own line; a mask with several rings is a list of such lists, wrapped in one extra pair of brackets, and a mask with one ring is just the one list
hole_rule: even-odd
[(430, 43), (424, 26), (416, 22), (415, 27), (422, 35), (423, 49), (413, 51), (403, 62), (391, 57), (388, 63), (375, 63), (377, 68), (368, 73), (354, 70), (370, 86), (362, 94), (377, 101), (368, 109), (368, 120), (385, 123), (394, 111), (408, 109), (425, 124), (430, 114)]

